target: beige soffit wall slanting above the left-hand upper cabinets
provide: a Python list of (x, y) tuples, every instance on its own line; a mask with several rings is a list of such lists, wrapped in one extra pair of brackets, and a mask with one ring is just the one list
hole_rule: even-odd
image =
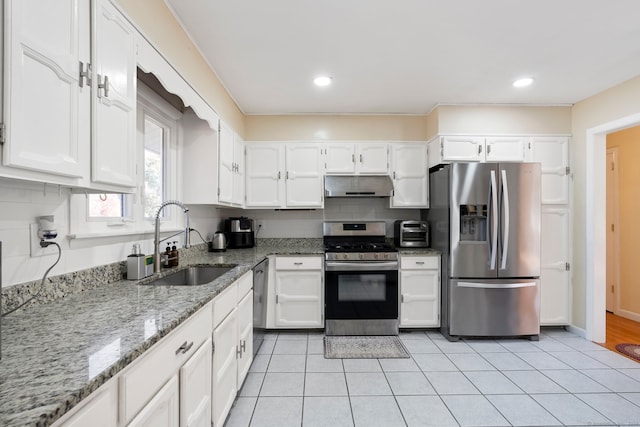
[(244, 116), (163, 0), (116, 0), (151, 44), (240, 135)]

